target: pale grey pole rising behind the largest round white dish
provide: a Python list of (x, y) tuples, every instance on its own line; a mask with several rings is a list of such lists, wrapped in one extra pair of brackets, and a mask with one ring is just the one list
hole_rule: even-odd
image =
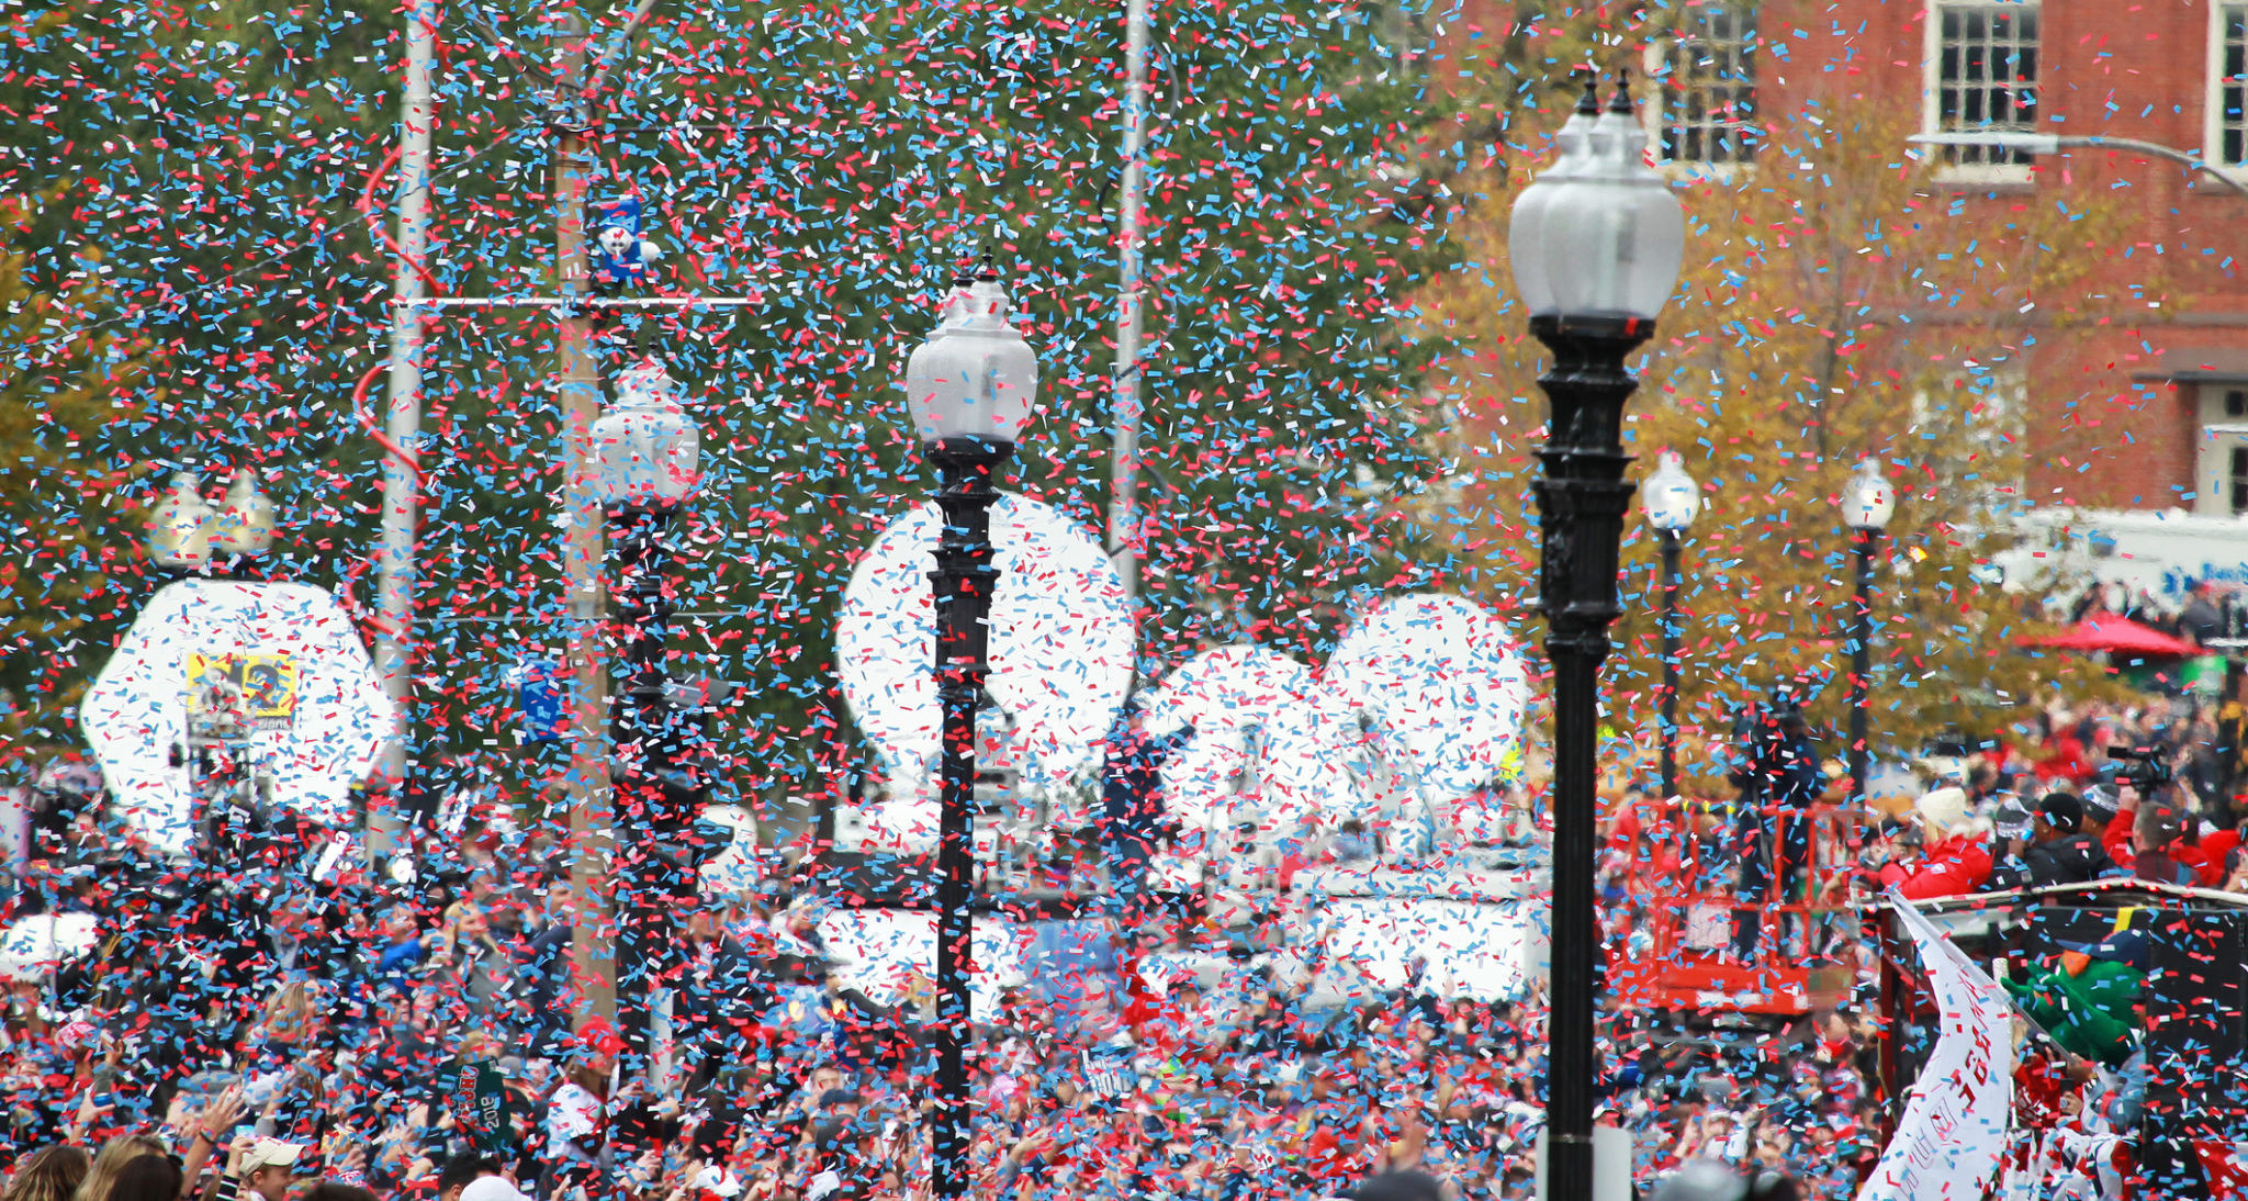
[(1108, 553), (1124, 600), (1140, 596), (1140, 193), (1146, 189), (1146, 0), (1124, 4), (1124, 182), (1117, 191), (1115, 457)]

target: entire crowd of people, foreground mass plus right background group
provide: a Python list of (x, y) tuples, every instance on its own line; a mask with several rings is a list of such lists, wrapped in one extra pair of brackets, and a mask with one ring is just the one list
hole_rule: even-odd
[[(1634, 954), (1659, 873), (1751, 902), (2115, 875), (2248, 888), (2228, 720), (2169, 702), (2055, 708), (2032, 738), (1922, 765), (1909, 807), (1852, 832), (1792, 823), (1843, 785), (1783, 713), (1749, 740), (1733, 805), (1610, 807), (1610, 956)], [(2118, 762), (2111, 744), (2151, 753)], [(2156, 787), (2156, 767), (2176, 783)], [(79, 825), (101, 810), (83, 801)], [(560, 834), (479, 821), (456, 834), (400, 884), (348, 866), (317, 877), (274, 846), (225, 868), (90, 873), (70, 848), (101, 839), (43, 825), (11, 922), (97, 936), (36, 963), (0, 947), (9, 1188), (36, 1201), (926, 1197), (933, 1005), (881, 1005), (825, 972), (805, 864), (771, 859), (740, 893), (674, 915), (670, 1021), (647, 1059), (584, 1019), (575, 927), (605, 897), (558, 875)], [(1338, 830), (1315, 857), (1360, 861), (1369, 837)], [(1263, 868), (1218, 882), (1286, 891), (1290, 873)], [(980, 1014), (978, 1197), (1311, 1199), (1405, 1170), (1468, 1199), (1531, 1194), (1538, 985), (1475, 1001), (1416, 965), (1322, 1001), (1304, 956), (1254, 954), (1290, 940), (1284, 904), (1144, 913), (1117, 927), (1102, 981), (1066, 999), (1014, 990)], [(1200, 942), (1227, 965), (1216, 976), (1153, 967), (1196, 931), (1257, 922), (1275, 929)], [(1717, 1158), (1803, 1197), (1852, 1197), (1882, 1134), (1882, 1030), (1861, 999), (1796, 1021), (1605, 1014), (1601, 1122), (1632, 1131), (1634, 1179), (1652, 1190)]]

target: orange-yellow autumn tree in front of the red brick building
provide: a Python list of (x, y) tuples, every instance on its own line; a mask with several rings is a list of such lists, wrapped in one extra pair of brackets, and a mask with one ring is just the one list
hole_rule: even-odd
[[(2023, 196), (2003, 238), (1969, 241), (1945, 220), (1956, 189), (1940, 164), (1906, 153), (1909, 117), (1814, 103), (1769, 133), (1753, 166), (1679, 180), (1686, 265), (1637, 364), (1625, 441), (1641, 479), (1675, 450), (1702, 484), (1682, 589), (1688, 751), (1783, 679), (1812, 681), (1812, 720), (1843, 729), (1855, 576), (1837, 497), (1859, 459), (1900, 490), (1875, 549), (1877, 753), (1989, 733), (2057, 688), (2104, 688), (2097, 668), (2021, 645), (2046, 630), (2041, 589), (2064, 580), (2001, 585), (1992, 556), (2025, 508), (2037, 398), (2023, 362), (2073, 324), (2118, 319), (2091, 295), (2118, 205)], [(1425, 396), (1457, 414), (1439, 450), (1452, 472), (1401, 504), (1452, 587), (1515, 609), (1535, 592), (1547, 355), (1511, 292), (1506, 214), (1524, 162), (1551, 157), (1551, 128), (1517, 130), (1515, 171), (1486, 173), (1472, 209), (1472, 265), (1425, 297), (1425, 328), (1459, 344)], [(1659, 549), (1637, 520), (1623, 562), (1610, 753), (1652, 762)], [(1839, 735), (1825, 747), (1843, 753)]]

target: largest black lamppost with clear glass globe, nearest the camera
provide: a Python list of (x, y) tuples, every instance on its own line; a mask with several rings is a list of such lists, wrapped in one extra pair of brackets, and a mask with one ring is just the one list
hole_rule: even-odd
[(1598, 83), (1560, 130), (1560, 160), (1515, 200), (1508, 256), (1531, 333), (1553, 351), (1540, 376), (1551, 416), (1538, 452), (1540, 607), (1553, 668), (1553, 1014), (1547, 1068), (1547, 1197), (1594, 1197), (1592, 1053), (1594, 771), (1601, 661), (1621, 616), (1616, 558), (1632, 484), (1623, 403), (1639, 380), (1625, 355), (1655, 333), (1677, 286), (1686, 218), (1646, 164), (1632, 97)]

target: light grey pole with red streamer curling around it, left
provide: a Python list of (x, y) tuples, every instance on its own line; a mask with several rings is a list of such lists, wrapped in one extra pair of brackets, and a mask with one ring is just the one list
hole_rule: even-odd
[[(398, 128), (398, 268), (391, 274), (391, 394), (382, 432), (391, 448), (414, 454), (420, 445), (423, 261), (429, 250), (429, 139), (436, 126), (436, 0), (407, 0), (407, 76)], [(382, 457), (382, 558), (375, 562), (375, 672), (391, 704), (391, 738), (382, 747), (382, 801), (366, 812), (369, 857), (398, 846), (398, 807), (405, 801), (414, 740), (414, 544), (418, 463), (396, 450)]]

